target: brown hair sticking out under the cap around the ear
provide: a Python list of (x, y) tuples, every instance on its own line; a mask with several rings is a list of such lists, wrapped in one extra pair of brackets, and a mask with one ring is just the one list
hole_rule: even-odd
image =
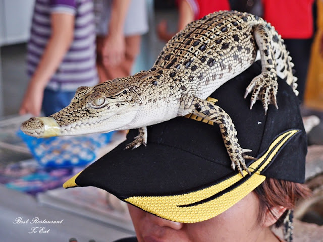
[[(295, 202), (300, 198), (309, 197), (311, 191), (300, 183), (293, 183), (288, 180), (279, 180), (275, 178), (266, 178), (255, 190), (253, 190), (259, 199), (258, 221), (261, 222), (267, 210), (277, 206), (283, 206), (287, 209), (293, 209)], [(282, 225), (286, 217), (287, 210), (278, 218), (276, 227)]]

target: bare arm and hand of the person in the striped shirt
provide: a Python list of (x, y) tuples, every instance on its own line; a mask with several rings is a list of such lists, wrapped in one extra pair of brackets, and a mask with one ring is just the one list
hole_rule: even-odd
[(40, 114), (44, 89), (62, 62), (73, 41), (73, 37), (74, 15), (65, 13), (51, 14), (51, 36), (29, 82), (20, 107), (20, 114), (31, 113), (36, 116)]

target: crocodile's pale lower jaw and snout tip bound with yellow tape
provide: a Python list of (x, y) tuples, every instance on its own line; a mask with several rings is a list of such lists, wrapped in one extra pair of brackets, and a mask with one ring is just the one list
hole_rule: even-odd
[(49, 117), (31, 117), (25, 121), (20, 129), (29, 136), (46, 138), (53, 136), (72, 136), (93, 133), (108, 133), (114, 130), (125, 130), (133, 127), (132, 120), (135, 119), (136, 111), (120, 112), (105, 119), (92, 119), (90, 122), (73, 122), (71, 124), (59, 125), (59, 122)]

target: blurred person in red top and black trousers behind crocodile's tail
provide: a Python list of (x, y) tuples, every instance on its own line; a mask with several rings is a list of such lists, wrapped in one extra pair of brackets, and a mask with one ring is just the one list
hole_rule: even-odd
[(262, 0), (263, 18), (270, 22), (285, 40), (292, 62), (295, 64), (298, 98), (304, 99), (310, 46), (313, 36), (314, 0)]

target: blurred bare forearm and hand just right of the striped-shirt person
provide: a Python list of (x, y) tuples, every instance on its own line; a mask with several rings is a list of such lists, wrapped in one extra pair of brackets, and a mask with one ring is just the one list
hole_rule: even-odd
[(124, 25), (130, 0), (114, 0), (112, 3), (109, 32), (102, 46), (103, 65), (106, 67), (118, 65), (125, 58), (126, 43)]

